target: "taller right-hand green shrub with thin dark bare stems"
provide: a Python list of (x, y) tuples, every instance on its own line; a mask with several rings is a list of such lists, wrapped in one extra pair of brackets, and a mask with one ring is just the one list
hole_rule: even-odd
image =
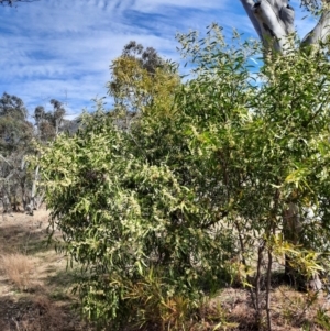
[(244, 44), (223, 53), (228, 45), (217, 35), (201, 44), (195, 33), (182, 36), (197, 79), (185, 87), (178, 109), (189, 111), (191, 154), (204, 156), (199, 169), (209, 180), (205, 191), (211, 192), (204, 197), (218, 199), (223, 222), (239, 234), (241, 262), (252, 271), (246, 279), (257, 327), (266, 307), (272, 330), (273, 262), (288, 256), (293, 271), (301, 280), (312, 279), (308, 285), (317, 290), (318, 272), (329, 269), (329, 43), (322, 52), (293, 47), (286, 56), (273, 56), (253, 86), (244, 63), (253, 53)]

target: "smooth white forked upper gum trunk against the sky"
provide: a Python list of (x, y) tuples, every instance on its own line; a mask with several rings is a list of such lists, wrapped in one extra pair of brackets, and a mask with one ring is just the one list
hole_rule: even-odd
[[(295, 11), (288, 0), (241, 0), (264, 46), (284, 52), (295, 32)], [(301, 0), (301, 5), (319, 15), (316, 26), (302, 38), (302, 45), (324, 42), (330, 33), (329, 0)]]

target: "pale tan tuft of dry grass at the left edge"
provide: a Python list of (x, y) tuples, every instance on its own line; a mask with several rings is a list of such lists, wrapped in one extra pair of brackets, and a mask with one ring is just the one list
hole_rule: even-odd
[(20, 253), (0, 255), (1, 272), (20, 290), (31, 289), (33, 284), (34, 258)]

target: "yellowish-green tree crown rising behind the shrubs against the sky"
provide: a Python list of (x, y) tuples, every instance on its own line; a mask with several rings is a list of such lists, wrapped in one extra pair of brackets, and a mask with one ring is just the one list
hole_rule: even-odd
[(109, 95), (114, 98), (117, 111), (122, 112), (125, 126), (152, 108), (162, 108), (164, 115), (168, 112), (180, 79), (176, 66), (154, 48), (130, 42), (110, 69)]

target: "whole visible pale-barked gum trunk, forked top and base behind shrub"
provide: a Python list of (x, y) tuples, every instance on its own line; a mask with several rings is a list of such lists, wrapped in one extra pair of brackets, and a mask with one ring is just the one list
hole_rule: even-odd
[[(265, 54), (276, 52), (285, 56), (286, 52), (294, 46), (292, 36), (295, 32), (295, 11), (288, 4), (288, 0), (240, 1), (264, 45)], [(319, 21), (302, 38), (301, 46), (304, 47), (317, 46), (318, 42), (324, 42), (330, 35), (330, 0), (319, 0), (319, 3), (322, 7)], [(317, 9), (317, 4), (318, 0), (301, 0), (301, 5), (308, 10)], [(297, 206), (289, 203), (283, 214), (285, 240), (293, 244), (301, 244), (302, 221)], [(295, 282), (297, 272), (290, 266), (288, 256), (286, 256), (285, 273)], [(319, 290), (319, 278), (315, 277), (309, 285)]]

